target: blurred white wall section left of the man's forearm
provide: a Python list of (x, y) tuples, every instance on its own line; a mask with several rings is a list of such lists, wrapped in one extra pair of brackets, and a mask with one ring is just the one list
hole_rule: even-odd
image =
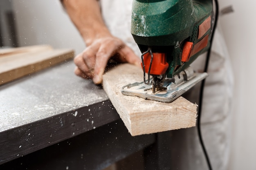
[(13, 0), (20, 46), (50, 44), (83, 51), (84, 42), (59, 0)]

